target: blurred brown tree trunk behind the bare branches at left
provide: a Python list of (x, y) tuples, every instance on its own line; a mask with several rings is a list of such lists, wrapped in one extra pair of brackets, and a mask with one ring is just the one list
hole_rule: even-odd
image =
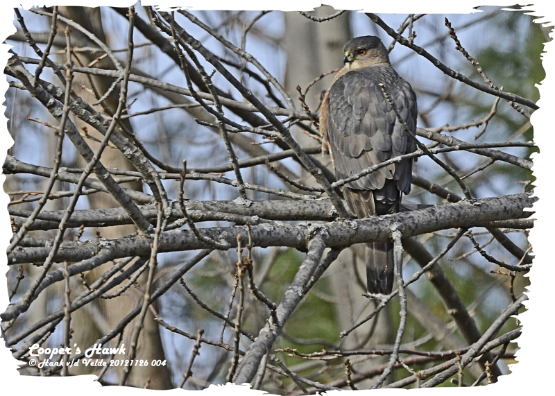
[[(109, 44), (109, 38), (106, 37), (103, 24), (102, 24), (102, 17), (101, 17), (101, 9), (100, 8), (83, 8), (83, 7), (60, 7), (60, 14), (76, 23), (80, 24), (88, 31), (94, 33), (96, 37), (98, 37), (103, 42)], [(58, 22), (59, 28), (64, 29), (65, 26)], [(78, 31), (72, 30), (71, 33), (71, 40), (73, 46), (81, 46), (87, 42), (86, 37), (81, 35)], [(87, 64), (92, 62), (96, 58), (95, 55), (90, 55), (87, 52), (79, 53), (78, 57), (80, 58), (81, 62)], [(110, 62), (109, 60), (105, 59), (97, 65), (97, 67), (102, 67), (102, 62)], [(112, 84), (113, 80), (110, 78), (103, 78), (103, 77), (92, 77), (93, 84), (98, 89), (100, 95), (105, 94), (108, 92), (110, 85)], [(84, 78), (83, 76), (76, 76), (74, 80), (74, 87), (78, 87), (78, 84), (83, 84), (86, 87), (90, 87), (89, 80)], [(87, 100), (85, 92), (80, 92), (83, 98)], [(90, 101), (94, 102), (94, 98), (89, 98)], [(119, 89), (114, 89), (112, 94), (108, 96), (105, 100), (105, 105), (113, 112), (117, 108), (117, 103), (119, 100)], [(92, 103), (89, 102), (89, 103)], [(84, 127), (85, 123), (80, 121), (74, 117), (74, 123), (78, 128)], [(132, 130), (132, 126), (129, 122), (126, 123), (126, 127), (129, 130)], [(102, 139), (102, 135), (97, 132), (96, 130), (92, 130), (91, 126), (87, 125), (87, 129), (90, 135), (96, 136), (99, 139)], [(89, 145), (92, 147), (93, 150), (99, 146), (94, 141), (89, 141)], [(107, 168), (118, 168), (118, 169), (128, 169), (135, 171), (134, 167), (126, 157), (117, 149), (115, 148), (106, 148), (103, 152), (101, 157), (101, 162)], [(85, 164), (82, 162), (82, 166)], [(140, 182), (137, 183), (128, 183), (125, 184), (125, 187), (131, 187), (133, 189), (142, 190), (142, 184)], [(91, 208), (108, 208), (108, 207), (118, 207), (116, 201), (107, 193), (96, 193), (92, 194), (87, 197), (89, 200), (89, 204)], [(118, 238), (123, 235), (133, 234), (136, 229), (132, 225), (126, 225), (121, 227), (107, 227), (102, 228), (99, 230), (99, 235), (106, 239), (114, 239)], [(97, 277), (105, 272), (108, 269), (109, 264), (105, 264), (99, 268), (96, 268), (93, 272), (94, 275), (92, 277)], [(88, 279), (89, 282), (94, 282), (94, 279)], [(146, 275), (139, 278), (139, 284), (144, 284), (146, 281)], [(77, 311), (73, 318), (74, 324), (72, 327), (76, 329), (74, 333), (73, 340), (74, 343), (77, 343), (80, 347), (87, 345), (92, 345), (96, 339), (98, 339), (102, 334), (106, 334), (110, 329), (112, 329), (117, 323), (123, 319), (126, 314), (133, 309), (138, 304), (142, 304), (142, 295), (136, 289), (129, 289), (126, 291), (124, 295), (121, 295), (119, 298), (114, 298), (113, 300), (99, 300), (98, 308), (101, 316), (105, 317), (105, 322), (102, 320), (95, 320), (94, 316), (91, 315), (91, 311), (79, 310)], [(156, 304), (153, 304), (156, 307)], [(96, 316), (98, 318), (98, 316)], [(81, 324), (78, 324), (80, 322)], [(100, 322), (100, 323), (99, 323)], [(109, 325), (110, 329), (105, 329), (105, 325)], [(123, 341), (125, 343), (126, 349), (128, 349), (130, 344), (130, 337), (133, 333), (133, 326), (134, 322), (131, 322), (125, 332), (123, 333)], [(127, 385), (130, 386), (137, 386), (137, 387), (144, 387), (148, 383), (148, 388), (152, 389), (170, 389), (173, 388), (171, 383), (171, 375), (168, 369), (168, 366), (153, 366), (151, 365), (151, 361), (153, 360), (165, 360), (164, 356), (164, 349), (162, 347), (162, 341), (160, 339), (160, 332), (158, 329), (157, 322), (155, 322), (154, 317), (150, 311), (146, 314), (146, 318), (144, 319), (143, 329), (141, 335), (139, 337), (139, 347), (137, 348), (137, 356), (135, 359), (146, 360), (148, 361), (148, 366), (136, 366), (133, 367), (133, 370), (130, 372), (130, 376), (126, 382)], [(115, 346), (115, 345), (114, 345)], [(121, 358), (120, 358), (121, 359)], [(87, 368), (84, 368), (85, 370)], [(80, 367), (80, 370), (77, 372), (79, 374), (84, 374), (85, 372), (81, 371), (83, 367)], [(119, 370), (118, 375), (121, 375), (122, 370)]]

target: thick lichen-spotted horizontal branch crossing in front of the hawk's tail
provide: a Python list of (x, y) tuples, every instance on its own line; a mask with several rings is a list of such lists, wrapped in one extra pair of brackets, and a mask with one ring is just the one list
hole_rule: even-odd
[[(402, 224), (403, 236), (409, 237), (446, 228), (481, 227), (490, 221), (526, 218), (530, 212), (524, 209), (531, 207), (536, 200), (537, 198), (529, 193), (522, 193), (481, 200), (463, 200), (459, 203), (363, 220), (336, 221), (322, 225), (303, 223), (296, 226), (275, 222), (252, 225), (250, 230), (253, 246), (289, 246), (303, 250), (305, 241), (309, 240), (314, 227), (322, 227), (329, 235), (328, 247), (345, 248), (355, 243), (387, 241), (389, 229), (395, 222)], [(237, 234), (241, 234), (245, 240), (248, 240), (248, 232), (244, 226), (200, 228), (198, 232), (214, 241), (221, 243), (225, 241), (232, 248), (237, 246)], [(105, 248), (114, 250), (114, 258), (117, 258), (148, 255), (150, 254), (149, 244), (149, 239), (129, 236), (106, 241)], [(188, 230), (171, 230), (160, 235), (160, 252), (196, 250), (206, 247), (205, 243), (199, 241)], [(96, 246), (90, 246), (88, 243), (63, 242), (55, 259), (75, 261), (80, 257), (95, 255), (96, 249)], [(48, 248), (15, 248), (8, 255), (8, 264), (40, 261), (48, 255), (48, 252)]]

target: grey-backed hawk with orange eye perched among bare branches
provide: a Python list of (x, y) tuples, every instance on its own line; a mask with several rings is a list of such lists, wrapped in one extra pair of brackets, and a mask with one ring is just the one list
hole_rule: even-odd
[[(375, 36), (356, 37), (343, 51), (345, 67), (327, 92), (320, 115), (338, 180), (416, 148), (379, 87), (385, 85), (400, 118), (416, 132), (416, 95), (391, 66), (384, 44)], [(388, 164), (345, 184), (343, 196), (358, 218), (399, 212), (401, 194), (411, 191), (411, 172), (411, 160)], [(367, 243), (368, 292), (391, 293), (393, 272), (393, 242)]]

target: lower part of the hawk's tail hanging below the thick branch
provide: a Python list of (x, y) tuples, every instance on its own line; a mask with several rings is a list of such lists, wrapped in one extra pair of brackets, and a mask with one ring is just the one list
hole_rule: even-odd
[(366, 282), (368, 293), (391, 293), (394, 272), (393, 242), (366, 243)]

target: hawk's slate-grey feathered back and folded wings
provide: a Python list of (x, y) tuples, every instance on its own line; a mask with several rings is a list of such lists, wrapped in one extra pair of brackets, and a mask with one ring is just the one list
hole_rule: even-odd
[[(349, 71), (330, 89), (327, 133), (338, 178), (347, 178), (398, 155), (411, 153), (415, 144), (398, 122), (387, 102), (386, 90), (409, 130), (416, 131), (416, 95), (391, 64), (378, 64)], [(411, 161), (390, 164), (350, 182), (352, 189), (382, 189), (396, 180), (399, 191), (411, 188)]]

